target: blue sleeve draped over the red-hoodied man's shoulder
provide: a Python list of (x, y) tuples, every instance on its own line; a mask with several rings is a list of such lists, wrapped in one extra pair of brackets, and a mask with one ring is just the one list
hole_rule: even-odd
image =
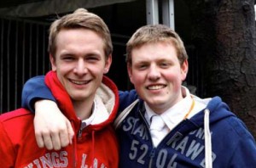
[(55, 101), (49, 88), (44, 83), (44, 76), (32, 77), (26, 81), (22, 90), (21, 106), (34, 112), (34, 104), (39, 99)]

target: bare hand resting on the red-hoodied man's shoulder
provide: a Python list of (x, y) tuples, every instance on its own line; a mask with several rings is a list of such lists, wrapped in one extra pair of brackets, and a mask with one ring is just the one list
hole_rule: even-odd
[(54, 102), (40, 100), (35, 109), (34, 127), (39, 148), (60, 150), (72, 144), (73, 127)]

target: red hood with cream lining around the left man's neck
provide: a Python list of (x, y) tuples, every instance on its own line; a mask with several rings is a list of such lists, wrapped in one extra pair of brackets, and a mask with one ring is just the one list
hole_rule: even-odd
[[(47, 73), (45, 83), (54, 95), (61, 112), (73, 122), (76, 130), (78, 130), (80, 120), (73, 109), (71, 98), (56, 76), (55, 71), (49, 71), (49, 73)], [(98, 121), (97, 124), (88, 126), (88, 128), (90, 128), (89, 130), (100, 130), (104, 126), (111, 124), (117, 113), (119, 106), (118, 89), (107, 76), (103, 76), (102, 84), (96, 91), (95, 102), (99, 103), (96, 113), (105, 110), (108, 112), (108, 118), (107, 120), (102, 120), (102, 122)]]

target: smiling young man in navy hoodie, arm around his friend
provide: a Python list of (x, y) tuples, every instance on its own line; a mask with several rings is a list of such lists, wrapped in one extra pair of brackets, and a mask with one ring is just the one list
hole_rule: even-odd
[[(119, 115), (114, 122), (120, 143), (119, 167), (256, 166), (253, 136), (228, 105), (218, 97), (198, 98), (182, 86), (189, 69), (188, 55), (175, 31), (165, 25), (145, 25), (131, 36), (126, 52), (128, 74), (136, 90), (119, 92)], [(29, 81), (26, 94), (32, 99), (54, 100), (46, 87), (42, 89), (47, 96), (32, 92), (39, 81), (44, 78)], [(26, 105), (31, 98), (23, 99)], [(44, 105), (53, 104), (49, 102), (36, 103), (40, 118), (61, 114), (59, 109), (49, 111)], [(37, 138), (60, 135), (53, 129), (42, 132), (54, 122), (40, 123)], [(50, 141), (55, 142), (54, 138)]]

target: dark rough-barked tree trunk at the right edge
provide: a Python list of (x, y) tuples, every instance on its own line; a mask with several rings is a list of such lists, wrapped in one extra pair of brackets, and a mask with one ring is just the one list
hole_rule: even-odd
[(219, 95), (256, 137), (254, 0), (185, 0), (204, 63), (206, 95)]

